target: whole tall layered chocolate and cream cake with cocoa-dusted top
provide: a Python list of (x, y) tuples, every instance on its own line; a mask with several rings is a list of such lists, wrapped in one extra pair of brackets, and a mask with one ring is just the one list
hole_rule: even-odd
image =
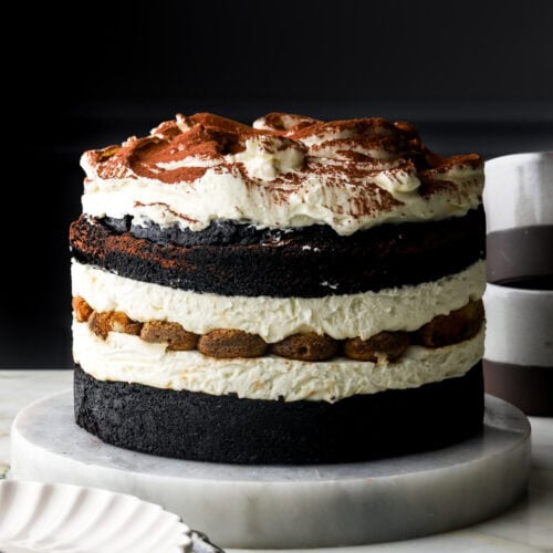
[(482, 427), (483, 163), (413, 125), (177, 115), (86, 152), (76, 422), (230, 463), (359, 461)]

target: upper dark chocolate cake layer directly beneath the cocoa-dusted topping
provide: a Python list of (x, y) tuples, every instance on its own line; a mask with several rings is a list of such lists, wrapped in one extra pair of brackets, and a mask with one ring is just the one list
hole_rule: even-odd
[(82, 216), (70, 241), (79, 261), (138, 281), (223, 295), (320, 298), (459, 272), (484, 258), (484, 226), (481, 209), (352, 237), (324, 226), (272, 232), (230, 222), (192, 233)]

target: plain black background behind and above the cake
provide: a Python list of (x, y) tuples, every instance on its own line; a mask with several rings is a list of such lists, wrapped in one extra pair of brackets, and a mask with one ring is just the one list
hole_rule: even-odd
[(4, 21), (0, 368), (71, 367), (80, 155), (177, 112), (378, 115), (487, 159), (553, 148), (549, 0), (75, 4)]

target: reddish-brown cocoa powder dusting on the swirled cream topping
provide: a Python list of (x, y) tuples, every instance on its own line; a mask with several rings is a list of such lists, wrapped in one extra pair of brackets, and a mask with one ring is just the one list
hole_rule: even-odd
[[(279, 137), (274, 150), (295, 148), (305, 156), (293, 170), (283, 170), (262, 180), (249, 174), (233, 156), (243, 152), (254, 137)], [(108, 146), (85, 154), (101, 179), (148, 178), (168, 185), (194, 182), (208, 170), (233, 174), (248, 187), (262, 186), (271, 201), (284, 202), (306, 179), (324, 176), (328, 186), (361, 187), (352, 196), (353, 213), (389, 209), (398, 201), (372, 182), (383, 170), (406, 167), (422, 181), (420, 195), (456, 187), (436, 176), (455, 168), (481, 169), (477, 154), (441, 157), (421, 144), (409, 123), (392, 123), (382, 117), (322, 122), (312, 117), (270, 113), (244, 125), (211, 113), (177, 115), (164, 122), (149, 136), (132, 137), (121, 146)], [(363, 189), (363, 194), (362, 194)]]

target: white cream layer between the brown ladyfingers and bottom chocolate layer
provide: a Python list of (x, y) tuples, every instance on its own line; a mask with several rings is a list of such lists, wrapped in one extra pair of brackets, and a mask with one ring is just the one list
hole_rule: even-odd
[(398, 362), (380, 365), (345, 358), (324, 363), (276, 356), (215, 359), (197, 351), (166, 352), (165, 344), (149, 344), (129, 334), (111, 332), (103, 341), (86, 323), (74, 322), (73, 356), (98, 380), (251, 399), (334, 403), (462, 376), (482, 357), (483, 337), (482, 328), (472, 340), (437, 349), (410, 346)]

